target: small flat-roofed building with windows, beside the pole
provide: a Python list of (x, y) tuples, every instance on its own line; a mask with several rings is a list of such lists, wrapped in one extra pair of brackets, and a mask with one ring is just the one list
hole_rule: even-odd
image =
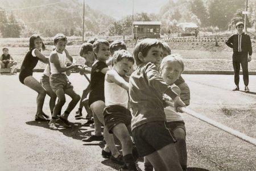
[(160, 38), (161, 22), (133, 22), (133, 37)]

